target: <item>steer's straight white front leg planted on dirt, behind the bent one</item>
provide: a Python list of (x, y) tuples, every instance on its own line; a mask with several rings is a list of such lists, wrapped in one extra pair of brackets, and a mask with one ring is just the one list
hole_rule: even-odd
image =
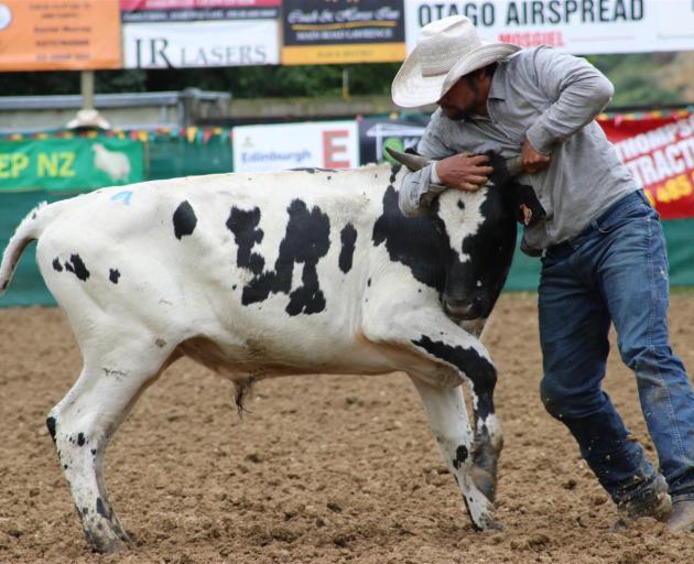
[(473, 433), (460, 387), (440, 388), (415, 376), (411, 378), (422, 399), (441, 456), (463, 495), (473, 525), (478, 530), (498, 528), (491, 500), (473, 479)]

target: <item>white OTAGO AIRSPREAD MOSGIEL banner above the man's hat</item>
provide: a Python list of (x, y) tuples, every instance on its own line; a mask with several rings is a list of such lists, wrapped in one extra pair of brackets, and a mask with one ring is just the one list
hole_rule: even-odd
[(408, 53), (422, 26), (467, 15), (482, 40), (577, 55), (694, 50), (694, 0), (405, 0)]

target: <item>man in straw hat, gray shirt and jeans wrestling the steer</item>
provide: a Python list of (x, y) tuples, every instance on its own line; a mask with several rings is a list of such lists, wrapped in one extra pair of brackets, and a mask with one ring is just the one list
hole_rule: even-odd
[[(617, 503), (617, 525), (668, 519), (694, 530), (694, 393), (668, 337), (668, 262), (659, 216), (595, 117), (614, 93), (582, 58), (541, 46), (482, 42), (464, 17), (424, 26), (392, 84), (402, 107), (438, 105), (418, 145), (435, 162), (405, 176), (400, 207), (426, 213), (446, 188), (487, 183), (487, 158), (521, 154), (546, 210), (521, 248), (542, 256), (541, 398), (576, 438)], [(660, 469), (601, 390), (608, 329), (635, 370)]]

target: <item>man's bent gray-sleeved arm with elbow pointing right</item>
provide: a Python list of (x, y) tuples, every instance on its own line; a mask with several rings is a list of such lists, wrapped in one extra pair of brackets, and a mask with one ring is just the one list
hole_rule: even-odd
[[(528, 160), (536, 160), (531, 149), (547, 155), (555, 144), (593, 121), (615, 93), (612, 84), (590, 63), (551, 47), (534, 52), (528, 78), (554, 100), (525, 132), (531, 145), (523, 148)], [(525, 170), (536, 172), (532, 166)]]

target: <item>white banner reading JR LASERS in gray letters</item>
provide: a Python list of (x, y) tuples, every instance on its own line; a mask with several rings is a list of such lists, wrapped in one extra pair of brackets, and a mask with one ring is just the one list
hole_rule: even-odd
[(123, 23), (126, 68), (276, 65), (278, 20)]

